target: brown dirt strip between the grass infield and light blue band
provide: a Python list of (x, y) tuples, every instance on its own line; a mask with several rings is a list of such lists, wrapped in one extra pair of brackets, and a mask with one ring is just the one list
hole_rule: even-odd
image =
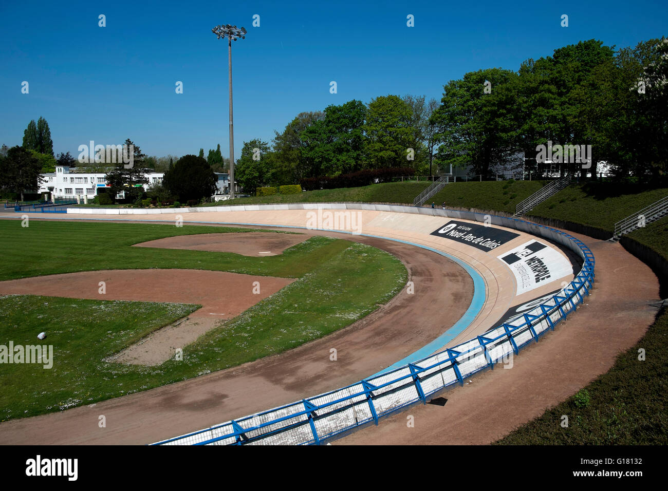
[[(297, 230), (303, 232), (303, 230)], [(0, 424), (4, 444), (148, 444), (358, 381), (426, 345), (470, 304), (473, 283), (452, 261), (417, 247), (334, 232), (395, 255), (415, 293), (361, 321), (272, 357), (61, 413)], [(420, 319), (420, 323), (415, 320)], [(337, 361), (330, 349), (337, 349)], [(106, 428), (98, 416), (106, 416)]]

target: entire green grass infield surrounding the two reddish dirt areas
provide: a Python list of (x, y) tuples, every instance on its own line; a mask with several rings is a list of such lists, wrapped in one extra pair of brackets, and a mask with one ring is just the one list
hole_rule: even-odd
[[(285, 351), (367, 315), (407, 281), (401, 262), (388, 253), (327, 237), (310, 238), (283, 255), (259, 258), (130, 245), (173, 234), (222, 230), (79, 222), (31, 222), (21, 229), (18, 222), (0, 222), (0, 246), (11, 253), (0, 267), (2, 279), (149, 265), (298, 277), (184, 347), (182, 361), (169, 359), (156, 367), (103, 359), (198, 306), (0, 297), (0, 343), (53, 345), (51, 369), (42, 364), (1, 365), (0, 420), (94, 403)], [(224, 287), (220, 294), (226, 295)], [(36, 338), (41, 331), (48, 336), (44, 341)]]

